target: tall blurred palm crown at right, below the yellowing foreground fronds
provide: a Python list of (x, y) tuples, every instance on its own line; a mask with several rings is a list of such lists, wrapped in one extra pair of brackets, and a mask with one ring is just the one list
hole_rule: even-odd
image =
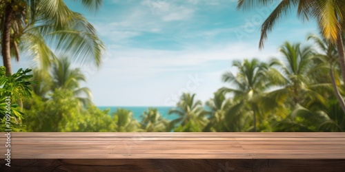
[[(273, 68), (268, 72), (270, 76), (270, 83), (273, 85), (282, 86), (270, 92), (267, 97), (271, 100), (267, 103), (274, 105), (283, 105), (288, 102), (291, 108), (297, 104), (312, 103), (313, 101), (324, 102), (324, 97), (316, 92), (319, 87), (325, 88), (325, 85), (314, 83), (313, 72), (315, 68), (313, 65), (314, 52), (311, 47), (301, 47), (299, 43), (290, 44), (285, 42), (279, 49), (283, 54), (284, 61), (279, 61), (277, 58), (272, 58), (270, 61)], [(281, 72), (279, 72), (279, 70)]]

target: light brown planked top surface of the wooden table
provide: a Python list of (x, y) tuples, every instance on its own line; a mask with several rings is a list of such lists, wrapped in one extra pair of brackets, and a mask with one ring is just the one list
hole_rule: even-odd
[(10, 149), (12, 159), (345, 159), (345, 133), (11, 133)]

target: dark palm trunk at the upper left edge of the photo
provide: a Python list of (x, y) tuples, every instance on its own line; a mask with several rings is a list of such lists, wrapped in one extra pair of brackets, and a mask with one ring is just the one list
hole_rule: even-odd
[(11, 65), (11, 54), (10, 54), (10, 34), (11, 34), (11, 19), (12, 19), (12, 7), (10, 3), (6, 3), (6, 8), (4, 12), (4, 25), (1, 43), (1, 55), (3, 58), (3, 65), (6, 67), (8, 74), (12, 74), (12, 65)]

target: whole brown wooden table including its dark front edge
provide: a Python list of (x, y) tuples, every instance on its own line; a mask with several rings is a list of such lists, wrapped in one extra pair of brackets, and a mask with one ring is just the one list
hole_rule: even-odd
[[(345, 133), (11, 133), (0, 171), (345, 171)], [(2, 142), (2, 143), (1, 143)]]

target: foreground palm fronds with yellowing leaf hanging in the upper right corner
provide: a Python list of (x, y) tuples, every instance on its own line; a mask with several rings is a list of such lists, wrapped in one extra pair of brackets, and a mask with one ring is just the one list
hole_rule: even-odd
[[(275, 1), (260, 0), (249, 1), (239, 0), (237, 9), (254, 8), (257, 6), (270, 6)], [(291, 0), (281, 1), (273, 12), (262, 24), (262, 34), (259, 47), (264, 47), (264, 41), (267, 38), (267, 32), (270, 32), (277, 21), (288, 14), (291, 9), (297, 9), (297, 14), (302, 19), (313, 18), (317, 21), (322, 36), (330, 43), (337, 46), (340, 66), (342, 69), (342, 79), (345, 82), (345, 53), (342, 36), (345, 30), (345, 1), (308, 1), (308, 0)]]

